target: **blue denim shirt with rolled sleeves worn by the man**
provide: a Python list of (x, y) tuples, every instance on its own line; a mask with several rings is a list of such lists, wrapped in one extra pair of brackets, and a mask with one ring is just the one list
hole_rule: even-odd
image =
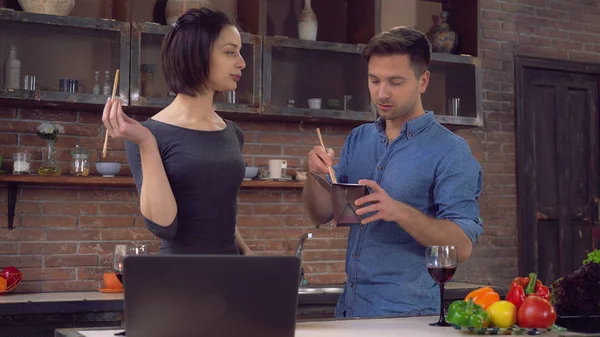
[[(477, 202), (482, 169), (467, 142), (426, 112), (387, 143), (381, 118), (355, 128), (334, 166), (338, 181), (374, 180), (394, 200), (453, 221), (475, 243), (483, 231)], [(427, 272), (425, 247), (395, 222), (350, 226), (346, 274), (336, 317), (439, 313), (439, 287)]]

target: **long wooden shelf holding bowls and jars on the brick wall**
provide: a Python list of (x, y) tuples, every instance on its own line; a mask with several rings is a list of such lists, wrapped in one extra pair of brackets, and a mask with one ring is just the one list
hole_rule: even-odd
[[(8, 184), (8, 229), (14, 228), (17, 188), (19, 185), (135, 187), (132, 177), (75, 177), (69, 175), (0, 175), (0, 183)], [(244, 180), (241, 189), (301, 189), (303, 181)]]

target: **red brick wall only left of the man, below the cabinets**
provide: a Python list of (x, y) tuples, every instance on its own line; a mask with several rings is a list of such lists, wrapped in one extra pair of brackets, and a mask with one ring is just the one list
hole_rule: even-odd
[[(45, 142), (35, 135), (43, 121), (65, 127), (57, 142), (63, 173), (68, 173), (70, 148), (82, 145), (97, 161), (103, 144), (100, 114), (74, 111), (0, 108), (2, 169), (12, 169), (12, 154), (29, 150), (34, 170)], [(318, 143), (315, 125), (239, 121), (245, 131), (248, 165), (266, 168), (270, 158), (286, 158), (292, 168)], [(339, 153), (350, 127), (319, 125), (324, 142)], [(110, 140), (108, 160), (126, 163), (122, 142)], [(96, 174), (92, 167), (92, 173)], [(130, 174), (125, 164), (121, 174)], [(298, 238), (314, 226), (304, 216), (300, 190), (242, 190), (239, 225), (257, 254), (293, 254)], [(86, 291), (102, 285), (102, 274), (112, 267), (118, 243), (160, 242), (139, 216), (135, 188), (76, 188), (31, 186), (18, 191), (16, 228), (7, 227), (7, 189), (0, 187), (0, 267), (14, 265), (25, 276), (20, 292)], [(324, 228), (306, 241), (304, 254), (311, 283), (341, 283), (346, 248), (344, 229)]]

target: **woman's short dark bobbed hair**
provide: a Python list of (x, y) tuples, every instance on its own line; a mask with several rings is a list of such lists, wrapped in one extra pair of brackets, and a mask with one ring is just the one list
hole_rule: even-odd
[(163, 73), (172, 92), (196, 96), (207, 89), (215, 40), (235, 24), (225, 13), (203, 7), (188, 10), (173, 26), (162, 43)]

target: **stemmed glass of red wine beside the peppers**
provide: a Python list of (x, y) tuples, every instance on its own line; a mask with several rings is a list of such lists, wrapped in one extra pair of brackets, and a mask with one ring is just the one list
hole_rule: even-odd
[(444, 316), (444, 285), (449, 282), (458, 267), (458, 248), (455, 246), (430, 246), (425, 251), (425, 263), (429, 275), (440, 286), (440, 319), (431, 326), (452, 326)]

